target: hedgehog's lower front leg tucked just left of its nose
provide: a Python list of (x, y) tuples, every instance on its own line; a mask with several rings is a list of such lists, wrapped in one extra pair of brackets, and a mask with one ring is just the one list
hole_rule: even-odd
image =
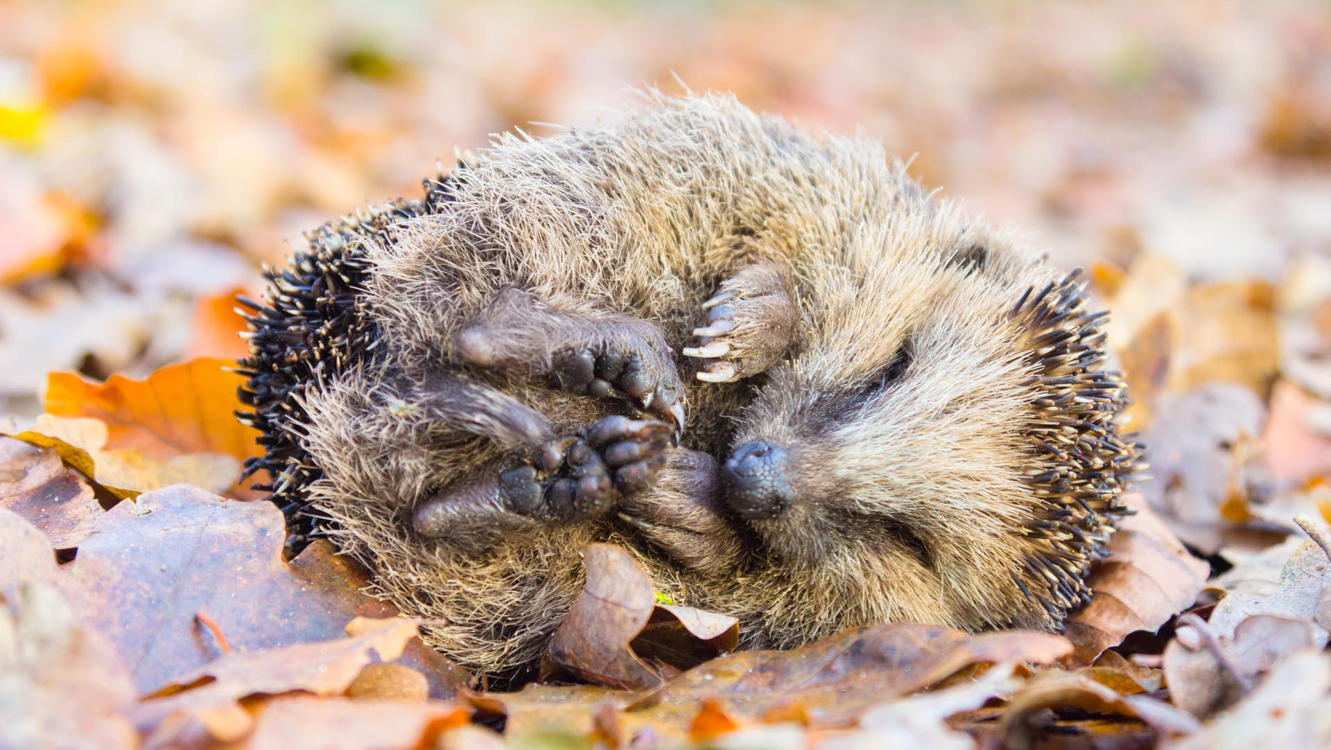
[(716, 459), (669, 452), (656, 484), (620, 501), (618, 517), (675, 562), (703, 573), (733, 569), (743, 544), (725, 517)]

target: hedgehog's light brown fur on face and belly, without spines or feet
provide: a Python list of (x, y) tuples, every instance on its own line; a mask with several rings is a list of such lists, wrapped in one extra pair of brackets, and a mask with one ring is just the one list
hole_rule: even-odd
[[(739, 617), (744, 646), (882, 621), (1055, 628), (1026, 565), (1046, 544), (1026, 535), (1044, 503), (1026, 479), (1040, 364), (1013, 309), (1061, 274), (866, 138), (815, 137), (721, 96), (650, 98), (612, 128), (500, 137), (454, 176), (449, 210), (371, 245), (382, 359), (303, 400), (325, 472), (310, 496), (335, 541), (377, 569), (379, 594), (445, 622), (435, 646), (494, 674), (539, 656), (590, 541), (623, 544), (676, 602)], [(459, 504), (457, 533), (415, 533), (441, 488), (623, 411), (534, 380), (548, 362), (459, 351), (504, 290), (570, 320), (646, 326), (677, 352), (708, 322), (701, 303), (755, 263), (788, 285), (792, 340), (740, 319), (731, 383), (699, 383), (679, 359), (688, 423), (651, 489), (580, 523)], [(484, 328), (495, 351), (540, 350), (516, 340), (534, 315), (522, 305)], [(779, 356), (745, 359), (745, 342)], [(909, 366), (876, 387), (902, 346)], [(755, 439), (787, 447), (795, 501), (744, 521), (713, 456)]]

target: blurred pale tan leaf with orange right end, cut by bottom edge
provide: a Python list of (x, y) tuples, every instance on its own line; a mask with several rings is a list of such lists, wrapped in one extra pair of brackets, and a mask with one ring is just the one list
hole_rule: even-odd
[(439, 737), (470, 723), (466, 709), (450, 703), (351, 701), (286, 695), (269, 702), (248, 750), (414, 750), (435, 747)]

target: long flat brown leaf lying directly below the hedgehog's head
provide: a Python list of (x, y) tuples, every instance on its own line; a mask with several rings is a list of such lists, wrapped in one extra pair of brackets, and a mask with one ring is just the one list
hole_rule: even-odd
[(845, 726), (865, 709), (928, 688), (974, 664), (1049, 664), (1071, 654), (1061, 636), (1009, 630), (968, 636), (932, 625), (847, 630), (800, 649), (741, 652), (676, 677), (635, 710), (720, 701), (728, 715), (757, 719), (799, 705), (816, 726)]

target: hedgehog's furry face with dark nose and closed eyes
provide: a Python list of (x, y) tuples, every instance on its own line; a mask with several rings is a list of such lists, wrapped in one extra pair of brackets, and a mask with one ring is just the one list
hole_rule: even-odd
[(727, 500), (788, 562), (929, 568), (957, 525), (1002, 540), (1030, 517), (1032, 366), (1005, 315), (1020, 293), (914, 266), (841, 282), (743, 415)]

